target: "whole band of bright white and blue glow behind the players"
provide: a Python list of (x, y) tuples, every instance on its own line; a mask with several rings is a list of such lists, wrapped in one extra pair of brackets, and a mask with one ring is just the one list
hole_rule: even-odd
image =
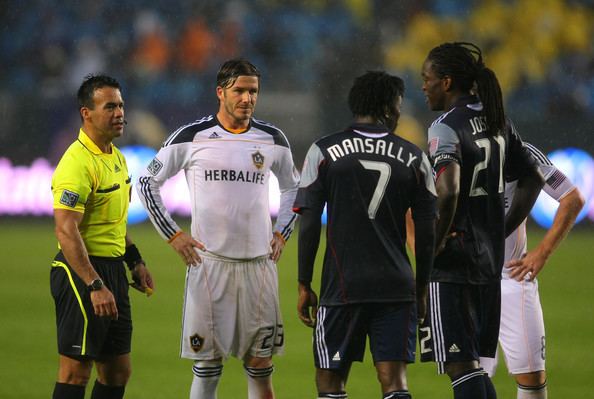
[[(126, 157), (133, 182), (156, 154), (154, 149), (145, 146), (122, 147), (121, 151)], [(549, 154), (549, 158), (578, 186), (586, 199), (576, 223), (586, 216), (594, 221), (594, 159), (587, 152), (577, 148), (554, 151)], [(51, 216), (51, 178), (54, 168), (55, 166), (43, 158), (36, 159), (30, 166), (15, 166), (8, 158), (0, 158), (0, 216)], [(270, 214), (276, 216), (280, 206), (280, 191), (274, 175), (270, 176), (269, 185)], [(190, 215), (190, 196), (183, 171), (165, 182), (161, 192), (169, 212), (178, 216)], [(542, 227), (548, 228), (553, 223), (557, 207), (557, 201), (541, 193), (532, 209), (532, 218)], [(326, 222), (326, 217), (324, 210), (323, 223)], [(132, 189), (129, 222), (139, 223), (147, 218), (136, 190)]]

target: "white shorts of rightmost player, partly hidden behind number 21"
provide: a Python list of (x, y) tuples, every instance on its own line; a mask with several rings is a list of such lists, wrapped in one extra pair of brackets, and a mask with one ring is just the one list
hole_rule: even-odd
[[(545, 328), (537, 280), (501, 280), (499, 345), (510, 374), (545, 369)], [(497, 357), (481, 358), (481, 366), (492, 377)]]

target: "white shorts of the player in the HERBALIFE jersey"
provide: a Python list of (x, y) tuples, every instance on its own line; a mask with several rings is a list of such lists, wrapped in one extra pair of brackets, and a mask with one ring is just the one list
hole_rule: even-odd
[(201, 253), (188, 267), (181, 357), (194, 360), (270, 357), (284, 332), (276, 264), (267, 256), (235, 261)]

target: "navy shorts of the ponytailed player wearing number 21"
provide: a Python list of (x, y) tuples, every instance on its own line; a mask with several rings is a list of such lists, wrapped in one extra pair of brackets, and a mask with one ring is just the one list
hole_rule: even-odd
[(444, 363), (494, 357), (499, 337), (501, 284), (432, 282), (419, 328), (421, 361)]

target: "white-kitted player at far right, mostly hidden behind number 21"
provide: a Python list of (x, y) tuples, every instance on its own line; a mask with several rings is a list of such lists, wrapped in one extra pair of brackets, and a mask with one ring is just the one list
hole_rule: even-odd
[[(505, 267), (501, 279), (499, 344), (505, 363), (518, 384), (518, 399), (545, 399), (545, 328), (536, 276), (573, 226), (584, 199), (577, 187), (536, 147), (524, 143), (538, 160), (545, 177), (543, 190), (559, 202), (553, 225), (542, 241), (527, 251), (526, 221), (505, 241)], [(506, 205), (516, 182), (505, 187)], [(481, 358), (481, 366), (495, 374), (497, 357)]]

